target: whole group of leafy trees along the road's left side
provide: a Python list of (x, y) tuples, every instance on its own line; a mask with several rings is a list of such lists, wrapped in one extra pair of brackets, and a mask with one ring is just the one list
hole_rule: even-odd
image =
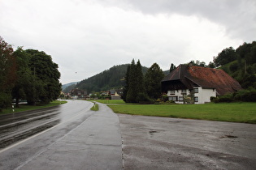
[(37, 49), (14, 51), (0, 36), (0, 111), (15, 100), (28, 104), (50, 103), (59, 97), (61, 83), (58, 65), (50, 55)]

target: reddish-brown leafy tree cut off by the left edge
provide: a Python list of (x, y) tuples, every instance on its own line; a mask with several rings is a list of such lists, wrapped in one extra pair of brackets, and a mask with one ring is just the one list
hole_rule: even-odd
[(0, 36), (0, 112), (11, 105), (11, 88), (15, 84), (15, 57), (13, 49)]

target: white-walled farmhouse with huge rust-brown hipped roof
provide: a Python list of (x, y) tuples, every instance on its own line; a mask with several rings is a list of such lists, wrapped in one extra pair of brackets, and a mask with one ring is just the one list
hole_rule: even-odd
[(201, 66), (180, 65), (161, 83), (168, 100), (180, 104), (204, 104), (210, 102), (211, 96), (241, 90), (240, 84), (223, 70)]

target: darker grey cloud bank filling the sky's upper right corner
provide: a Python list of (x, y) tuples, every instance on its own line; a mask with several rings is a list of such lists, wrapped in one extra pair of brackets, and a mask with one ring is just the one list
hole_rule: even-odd
[(158, 13), (197, 15), (220, 23), (228, 36), (254, 40), (256, 33), (256, 1), (254, 0), (127, 0), (134, 9), (145, 14)]

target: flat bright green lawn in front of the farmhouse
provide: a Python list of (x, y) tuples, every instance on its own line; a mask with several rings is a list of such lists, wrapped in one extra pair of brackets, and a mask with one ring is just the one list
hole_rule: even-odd
[(256, 103), (110, 104), (108, 106), (115, 113), (256, 124)]

